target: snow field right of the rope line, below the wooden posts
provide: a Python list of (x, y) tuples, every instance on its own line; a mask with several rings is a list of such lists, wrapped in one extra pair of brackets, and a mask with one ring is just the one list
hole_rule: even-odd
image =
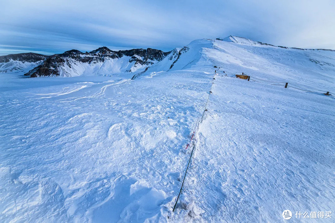
[(181, 197), (201, 218), (187, 221), (281, 222), (286, 209), (333, 210), (335, 142), (325, 129), (334, 128), (334, 98), (215, 79)]

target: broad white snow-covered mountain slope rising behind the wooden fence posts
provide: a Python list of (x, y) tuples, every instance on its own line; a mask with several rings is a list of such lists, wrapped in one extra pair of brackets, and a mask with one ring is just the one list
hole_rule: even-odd
[[(217, 66), (230, 76), (246, 75), (274, 82), (289, 82), (311, 90), (335, 91), (335, 51), (273, 46), (242, 37), (199, 39), (165, 58), (145, 73)], [(143, 75), (143, 73), (141, 73)], [(291, 85), (292, 86), (292, 85)]]

